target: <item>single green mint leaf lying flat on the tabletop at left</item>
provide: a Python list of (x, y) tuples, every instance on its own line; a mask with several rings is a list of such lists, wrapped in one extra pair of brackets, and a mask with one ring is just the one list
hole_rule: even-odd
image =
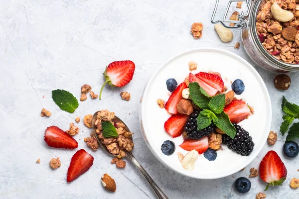
[(52, 99), (60, 107), (61, 110), (73, 113), (78, 108), (78, 100), (68, 91), (54, 90), (52, 91)]

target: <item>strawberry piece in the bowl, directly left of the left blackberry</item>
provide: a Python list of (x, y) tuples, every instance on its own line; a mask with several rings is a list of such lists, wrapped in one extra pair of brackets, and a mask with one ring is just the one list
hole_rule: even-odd
[(169, 117), (164, 123), (165, 131), (172, 137), (178, 137), (184, 130), (189, 115), (176, 114)]

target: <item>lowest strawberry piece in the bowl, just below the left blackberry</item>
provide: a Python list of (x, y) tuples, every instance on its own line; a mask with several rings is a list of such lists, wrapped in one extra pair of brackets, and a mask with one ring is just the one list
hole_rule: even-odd
[(209, 141), (208, 137), (205, 136), (199, 140), (184, 140), (179, 146), (186, 151), (195, 149), (199, 154), (202, 154), (209, 148)]

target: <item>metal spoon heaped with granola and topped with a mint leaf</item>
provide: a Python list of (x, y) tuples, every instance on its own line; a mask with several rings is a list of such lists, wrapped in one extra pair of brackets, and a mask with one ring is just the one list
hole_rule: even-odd
[(92, 137), (98, 141), (108, 154), (114, 156), (111, 163), (116, 163), (118, 168), (124, 168), (126, 162), (122, 158), (127, 157), (148, 180), (158, 199), (168, 199), (132, 154), (134, 148), (133, 133), (125, 122), (117, 117), (114, 112), (106, 109), (94, 113), (92, 127)]

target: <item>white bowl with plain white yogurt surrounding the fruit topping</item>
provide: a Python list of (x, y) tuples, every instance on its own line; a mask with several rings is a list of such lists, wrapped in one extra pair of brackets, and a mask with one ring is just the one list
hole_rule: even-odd
[[(209, 162), (203, 154), (199, 155), (193, 171), (185, 170), (178, 160), (177, 152), (186, 154), (179, 145), (183, 142), (182, 136), (172, 138), (164, 131), (164, 122), (170, 117), (165, 109), (159, 108), (156, 100), (167, 101), (168, 91), (166, 80), (174, 78), (178, 84), (184, 81), (189, 74), (188, 62), (198, 63), (196, 74), (200, 71), (219, 72), (228, 90), (231, 90), (231, 81), (243, 80), (245, 91), (237, 96), (246, 100), (254, 107), (254, 114), (239, 123), (249, 132), (255, 143), (250, 156), (241, 156), (223, 145), (223, 150), (217, 151), (215, 161)], [(140, 106), (140, 123), (144, 139), (155, 157), (166, 167), (176, 173), (197, 179), (217, 179), (234, 174), (246, 167), (262, 150), (271, 127), (271, 101), (268, 90), (258, 72), (243, 58), (231, 52), (219, 49), (194, 49), (174, 56), (163, 64), (150, 78)], [(175, 152), (171, 156), (164, 155), (160, 148), (165, 140), (175, 143)]]

